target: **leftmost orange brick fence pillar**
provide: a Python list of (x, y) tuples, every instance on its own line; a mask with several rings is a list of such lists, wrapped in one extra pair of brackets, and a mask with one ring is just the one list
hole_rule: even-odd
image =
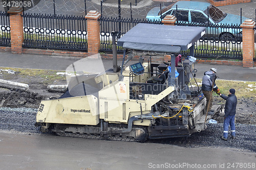
[(10, 14), (11, 28), (11, 51), (14, 54), (22, 54), (22, 43), (24, 40), (23, 34), (23, 9), (21, 7), (11, 7), (7, 13)]

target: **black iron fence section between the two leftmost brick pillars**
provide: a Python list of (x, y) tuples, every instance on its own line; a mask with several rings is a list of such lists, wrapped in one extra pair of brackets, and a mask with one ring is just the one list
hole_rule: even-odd
[(83, 16), (23, 14), (23, 47), (87, 51), (87, 19)]

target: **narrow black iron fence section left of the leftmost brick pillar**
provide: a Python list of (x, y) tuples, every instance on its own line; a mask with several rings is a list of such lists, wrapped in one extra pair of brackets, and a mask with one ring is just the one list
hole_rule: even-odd
[(7, 12), (0, 11), (0, 46), (11, 46), (10, 19)]

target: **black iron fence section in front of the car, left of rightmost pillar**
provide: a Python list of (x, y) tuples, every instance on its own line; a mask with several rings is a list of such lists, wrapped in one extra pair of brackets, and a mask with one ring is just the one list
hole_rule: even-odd
[[(195, 56), (206, 58), (243, 59), (240, 25), (214, 25), (178, 21), (178, 26), (205, 27), (205, 35), (195, 44)], [(183, 52), (188, 55), (188, 52)]]

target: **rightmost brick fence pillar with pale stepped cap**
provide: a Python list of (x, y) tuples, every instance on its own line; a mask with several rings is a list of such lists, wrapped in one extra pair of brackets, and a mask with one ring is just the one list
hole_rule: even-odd
[(254, 27), (255, 21), (252, 19), (246, 19), (241, 25), (243, 29), (243, 67), (253, 67)]

